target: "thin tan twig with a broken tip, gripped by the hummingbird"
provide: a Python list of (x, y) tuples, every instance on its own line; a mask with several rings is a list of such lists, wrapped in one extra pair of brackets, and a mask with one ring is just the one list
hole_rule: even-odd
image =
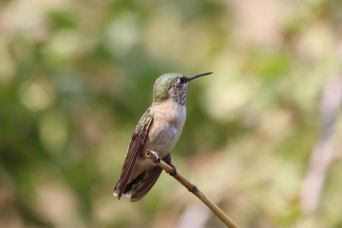
[[(165, 170), (167, 173), (171, 173), (173, 171), (172, 167), (168, 165), (163, 160), (158, 160), (154, 153), (149, 150), (146, 151), (146, 157), (156, 163), (159, 167)], [(209, 207), (209, 209), (214, 212), (214, 214), (229, 228), (239, 228), (216, 204), (214, 204), (203, 192), (201, 192), (196, 185), (190, 183), (187, 179), (185, 179), (181, 174), (177, 172), (176, 175), (173, 176), (178, 182), (180, 182), (184, 187), (186, 187), (190, 192), (192, 192), (197, 198), (199, 198), (204, 204)]]

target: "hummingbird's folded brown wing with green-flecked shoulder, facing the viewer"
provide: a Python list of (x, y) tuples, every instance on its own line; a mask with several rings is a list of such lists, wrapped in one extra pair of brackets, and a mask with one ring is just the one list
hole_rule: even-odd
[(135, 166), (136, 159), (139, 155), (141, 147), (143, 146), (144, 140), (146, 138), (148, 128), (152, 122), (153, 116), (150, 110), (147, 110), (141, 117), (135, 131), (132, 135), (131, 142), (128, 147), (126, 160), (122, 167), (122, 172), (120, 180), (114, 189), (114, 195), (117, 194), (118, 199), (120, 199), (123, 191), (125, 190), (128, 180), (131, 177), (133, 168)]

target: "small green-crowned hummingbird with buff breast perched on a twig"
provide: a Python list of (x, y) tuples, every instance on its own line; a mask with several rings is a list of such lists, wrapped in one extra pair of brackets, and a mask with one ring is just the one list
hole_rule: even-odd
[(114, 196), (123, 195), (135, 202), (143, 198), (157, 182), (162, 169), (146, 157), (146, 150), (172, 165), (171, 151), (176, 145), (185, 123), (186, 87), (195, 78), (212, 72), (186, 77), (180, 73), (160, 76), (153, 89), (153, 102), (141, 117), (133, 132)]

